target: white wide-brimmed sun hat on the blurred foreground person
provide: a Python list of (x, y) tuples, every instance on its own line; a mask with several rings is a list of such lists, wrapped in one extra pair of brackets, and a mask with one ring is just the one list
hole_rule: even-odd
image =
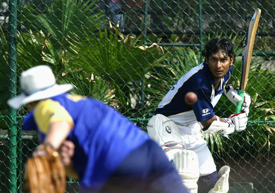
[(20, 77), (20, 95), (8, 100), (14, 109), (34, 101), (60, 95), (72, 90), (72, 84), (57, 84), (52, 69), (39, 65), (22, 72)]

